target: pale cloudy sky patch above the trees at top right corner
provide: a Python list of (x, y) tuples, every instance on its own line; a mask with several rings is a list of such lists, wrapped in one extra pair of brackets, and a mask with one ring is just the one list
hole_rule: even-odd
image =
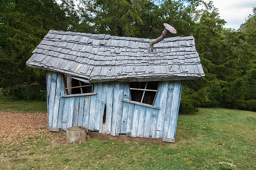
[[(219, 9), (220, 18), (227, 23), (225, 28), (238, 29), (249, 13), (252, 13), (252, 7), (256, 6), (256, 0), (212, 0), (213, 5)], [(209, 2), (209, 0), (207, 0)]]

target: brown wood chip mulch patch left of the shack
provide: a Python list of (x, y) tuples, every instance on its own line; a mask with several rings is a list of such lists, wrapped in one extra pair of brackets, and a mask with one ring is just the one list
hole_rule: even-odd
[(0, 145), (17, 143), (29, 138), (51, 135), (48, 129), (40, 127), (47, 124), (45, 113), (20, 113), (0, 111)]

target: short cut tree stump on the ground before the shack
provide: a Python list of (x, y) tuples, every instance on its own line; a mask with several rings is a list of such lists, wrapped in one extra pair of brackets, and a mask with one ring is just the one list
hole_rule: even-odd
[(72, 126), (66, 130), (66, 143), (84, 143), (86, 140), (86, 128)]

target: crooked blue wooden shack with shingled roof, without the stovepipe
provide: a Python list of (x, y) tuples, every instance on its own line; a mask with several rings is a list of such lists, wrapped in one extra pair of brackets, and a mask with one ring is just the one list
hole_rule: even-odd
[(182, 80), (204, 76), (195, 41), (50, 30), (26, 62), (46, 70), (48, 126), (174, 142)]

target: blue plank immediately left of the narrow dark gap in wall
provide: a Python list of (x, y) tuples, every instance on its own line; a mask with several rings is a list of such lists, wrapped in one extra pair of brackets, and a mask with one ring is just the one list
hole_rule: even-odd
[(100, 130), (102, 82), (98, 82), (96, 85), (97, 85), (97, 91), (96, 91), (97, 95), (96, 95), (94, 130)]

